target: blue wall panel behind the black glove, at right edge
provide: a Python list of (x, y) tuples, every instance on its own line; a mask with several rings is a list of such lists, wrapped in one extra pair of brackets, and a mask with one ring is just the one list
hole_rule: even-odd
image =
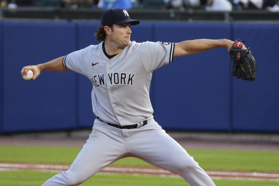
[(279, 24), (234, 24), (234, 38), (245, 40), (257, 63), (255, 82), (233, 79), (233, 130), (279, 131)]

